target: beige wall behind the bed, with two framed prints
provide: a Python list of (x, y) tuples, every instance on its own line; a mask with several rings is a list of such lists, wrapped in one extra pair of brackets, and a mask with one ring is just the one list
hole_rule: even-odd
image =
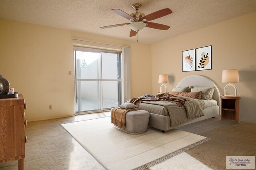
[[(171, 76), (168, 91), (183, 77), (198, 74), (212, 79), (223, 94), (222, 70), (238, 69), (241, 121), (256, 123), (255, 21), (256, 12), (152, 44), (152, 93), (160, 89), (159, 74)], [(208, 45), (212, 45), (212, 70), (182, 72), (182, 51)]]

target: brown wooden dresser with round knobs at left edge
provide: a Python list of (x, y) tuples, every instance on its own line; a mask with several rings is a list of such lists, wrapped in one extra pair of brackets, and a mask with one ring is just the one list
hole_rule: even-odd
[(24, 170), (26, 103), (22, 94), (17, 98), (0, 99), (0, 164), (18, 160), (18, 169)]

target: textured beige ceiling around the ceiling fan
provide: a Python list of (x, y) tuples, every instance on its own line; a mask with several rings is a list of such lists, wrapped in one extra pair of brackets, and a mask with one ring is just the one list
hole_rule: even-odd
[(142, 4), (139, 12), (146, 15), (163, 8), (173, 11), (152, 21), (171, 28), (145, 27), (138, 33), (142, 43), (159, 42), (256, 11), (256, 0), (0, 0), (0, 18), (136, 41), (136, 36), (129, 37), (128, 25), (100, 28), (129, 22), (111, 9), (131, 14), (134, 3)]

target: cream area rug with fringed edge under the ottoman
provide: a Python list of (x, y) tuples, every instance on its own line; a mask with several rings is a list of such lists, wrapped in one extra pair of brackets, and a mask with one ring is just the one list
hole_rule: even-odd
[(129, 134), (115, 128), (111, 117), (61, 126), (109, 170), (146, 169), (209, 140), (177, 129)]

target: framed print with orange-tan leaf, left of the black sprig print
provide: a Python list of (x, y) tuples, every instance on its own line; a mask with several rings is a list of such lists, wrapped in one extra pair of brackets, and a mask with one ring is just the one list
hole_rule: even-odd
[(196, 71), (196, 50), (182, 51), (182, 71)]

